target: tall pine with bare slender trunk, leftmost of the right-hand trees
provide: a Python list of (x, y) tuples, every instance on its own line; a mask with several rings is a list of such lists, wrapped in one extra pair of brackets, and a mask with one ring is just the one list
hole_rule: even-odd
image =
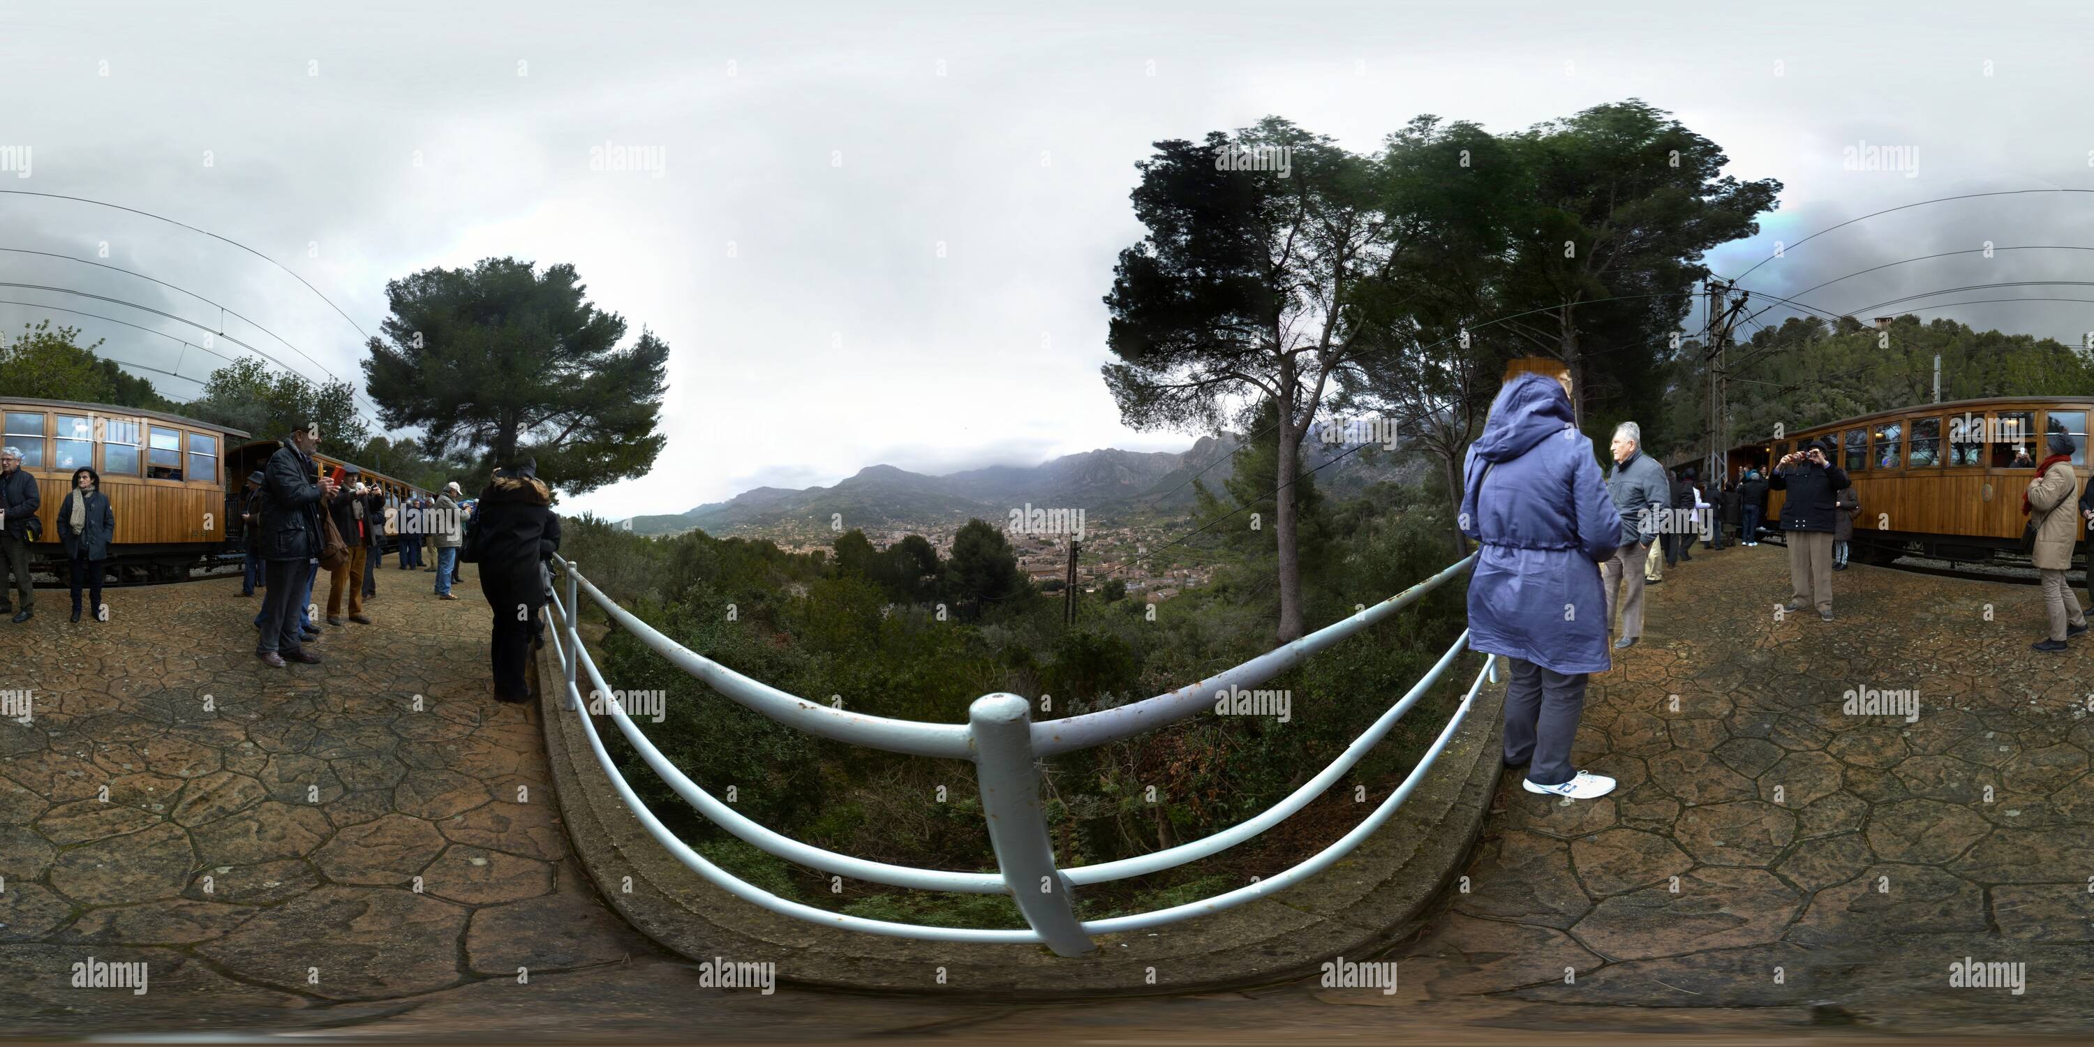
[(1104, 366), (1120, 419), (1137, 429), (1217, 429), (1275, 404), (1279, 496), (1273, 538), (1279, 641), (1302, 634), (1296, 549), (1298, 450), (1357, 352), (1346, 299), (1399, 249), (1378, 209), (1369, 157), (1279, 117), (1204, 142), (1164, 140), (1137, 163), (1135, 218), (1120, 251)]

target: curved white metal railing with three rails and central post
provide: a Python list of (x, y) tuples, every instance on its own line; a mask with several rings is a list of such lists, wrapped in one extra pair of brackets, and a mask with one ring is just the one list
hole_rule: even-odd
[[(1483, 668), (1476, 672), (1476, 681), (1470, 683), (1468, 693), (1462, 704), (1447, 718), (1447, 727), (1439, 733), (1432, 745), (1420, 756), (1418, 766), (1397, 785), (1380, 806), (1367, 815), (1365, 821), (1344, 833), (1336, 844), (1319, 850), (1311, 859), (1294, 865), (1292, 869), (1258, 879), (1250, 886), (1217, 894), (1206, 900), (1175, 905), (1171, 909), (1156, 909), (1150, 913), (1135, 913), (1112, 919), (1091, 919), (1078, 921), (1074, 911), (1072, 888), (1085, 884), (1108, 884), (1114, 879), (1127, 879), (1131, 875), (1156, 873), (1162, 869), (1173, 869), (1189, 861), (1217, 854), (1235, 844), (1242, 844), (1265, 829), (1271, 829), (1279, 821), (1292, 817), (1300, 808), (1309, 806), (1317, 796), (1321, 796), (1332, 783), (1336, 783), (1346, 771), (1351, 771), (1378, 741), (1382, 741), (1397, 720), (1416, 706), (1426, 691), (1430, 691), (1441, 676), (1447, 674), (1455, 658), (1462, 653), (1468, 632), (1464, 630), (1455, 637), (1447, 653), (1432, 664), (1432, 668), (1411, 687), (1397, 704), (1393, 704), (1380, 718), (1374, 720), (1367, 731), (1357, 739), (1336, 760), (1330, 762), (1319, 775), (1294, 789), (1286, 800), (1273, 804), (1271, 808), (1258, 812), (1256, 817), (1221, 829), (1202, 840), (1179, 844), (1173, 848), (1158, 850), (1154, 854), (1139, 854), (1133, 859), (1108, 861), (1099, 865), (1078, 865), (1072, 869), (1057, 869), (1053, 861), (1053, 846), (1047, 838), (1047, 823), (1041, 815), (1039, 798), (1039, 771), (1037, 762), (1045, 756), (1055, 756), (1064, 752), (1087, 750), (1104, 745), (1108, 741), (1118, 741), (1124, 737), (1139, 735), (1143, 731), (1154, 731), (1158, 727), (1183, 720), (1204, 708), (1212, 708), (1215, 691), (1225, 691), (1231, 687), (1256, 685), (1286, 672), (1300, 660), (1317, 653), (1397, 611), (1409, 607), (1426, 593), (1439, 588), (1449, 578), (1472, 567), (1476, 557), (1468, 555), (1462, 561), (1449, 565), (1447, 570), (1426, 578), (1424, 582), (1405, 588), (1403, 593), (1365, 607), (1351, 618), (1334, 622), (1326, 628), (1311, 632), (1294, 643), (1286, 643), (1267, 651), (1250, 662), (1235, 668), (1208, 676), (1189, 687), (1156, 695), (1143, 701), (1133, 701), (1127, 706), (1087, 712), (1081, 716), (1068, 716), (1062, 720), (1032, 722), (1032, 706), (1024, 697), (1009, 693), (995, 693), (974, 699), (967, 708), (965, 725), (932, 725), (915, 720), (892, 720), (884, 716), (867, 716), (861, 712), (840, 710), (833, 706), (821, 706), (804, 697), (789, 695), (777, 687), (752, 681), (718, 662), (697, 655), (683, 647), (681, 643), (664, 637), (660, 630), (641, 622), (632, 611), (620, 607), (614, 599), (605, 597), (595, 584), (591, 584), (576, 570), (572, 561), (555, 555), (563, 580), (565, 599), (557, 593), (553, 595), (553, 616), (559, 628), (553, 632), (553, 651), (559, 658), (563, 672), (563, 695), (565, 706), (576, 710), (582, 722), (582, 731), (588, 735), (588, 745), (597, 754), (597, 762), (603, 764), (603, 773), (609, 775), (611, 787), (626, 802), (641, 825), (653, 836), (670, 854), (681, 863), (697, 871), (701, 877), (714, 886), (727, 890), (729, 894), (768, 909), (773, 913), (806, 919), (812, 923), (840, 926), (846, 930), (859, 930), (867, 934), (884, 934), (892, 938), (919, 938), (919, 940), (940, 940), (940, 942), (1037, 942), (1047, 944), (1064, 957), (1083, 955), (1093, 949), (1093, 934), (1112, 934), (1141, 928), (1156, 928), (1164, 923), (1177, 923), (1196, 915), (1219, 913), (1223, 909), (1233, 909), (1252, 898), (1286, 890), (1315, 873), (1321, 873), (1338, 859), (1349, 854), (1367, 836), (1380, 829), (1403, 800), (1411, 796), (1411, 789), (1424, 779), (1432, 762), (1447, 748), (1455, 729), (1468, 716), (1470, 706), (1476, 701), (1476, 693), (1483, 689), (1483, 681), (1489, 676), (1497, 678), (1495, 655), (1485, 655)], [(720, 802), (695, 781), (691, 781), (676, 764), (668, 762), (647, 735), (641, 733), (639, 725), (626, 716), (626, 710), (609, 699), (614, 695), (611, 687), (603, 681), (597, 670), (595, 660), (588, 655), (588, 647), (580, 639), (576, 607), (582, 597), (601, 607), (611, 616), (618, 626), (630, 630), (641, 643), (651, 651), (668, 658), (672, 664), (685, 672), (697, 676), (714, 691), (748, 706), (773, 720), (798, 727), (812, 735), (848, 741), (854, 745), (903, 752), (913, 756), (942, 756), (955, 760), (970, 760), (976, 768), (976, 779), (982, 794), (982, 815), (988, 821), (988, 840), (997, 854), (995, 873), (957, 873), (940, 869), (911, 869), (905, 865), (886, 865), (877, 861), (854, 859), (848, 854), (838, 854), (833, 850), (823, 850), (789, 836), (777, 833), (758, 825), (756, 821), (739, 815), (733, 806)], [(794, 903), (779, 898), (762, 888), (756, 888), (733, 873), (720, 869), (706, 861), (704, 854), (691, 850), (689, 844), (668, 831), (662, 821), (647, 810), (647, 804), (632, 792), (618, 764), (611, 760), (609, 752), (603, 748), (603, 739), (597, 735), (597, 727), (591, 720), (591, 704), (584, 704), (582, 685), (588, 685), (593, 695), (603, 695), (599, 706), (609, 714), (611, 722), (626, 737), (632, 750), (641, 756), (649, 771), (653, 771), (670, 789), (676, 792), (685, 802), (697, 808), (699, 815), (712, 819), (716, 825), (737, 836), (739, 840), (768, 852), (779, 859), (808, 865), (827, 873), (848, 875), (852, 879), (865, 879), (873, 884), (890, 884), (898, 888), (917, 890), (949, 890), (949, 892), (970, 892), (970, 894), (1009, 894), (1020, 913), (1024, 913), (1030, 930), (972, 930), (972, 928), (928, 928), (915, 923), (892, 923), (884, 919), (865, 919), (846, 913), (831, 913), (827, 909), (817, 909), (812, 905)]]

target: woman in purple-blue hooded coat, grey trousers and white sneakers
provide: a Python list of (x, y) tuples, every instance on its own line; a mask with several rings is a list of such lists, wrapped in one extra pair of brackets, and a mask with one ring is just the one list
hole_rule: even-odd
[(1621, 513), (1566, 392), (1533, 373), (1499, 389), (1468, 448), (1460, 524), (1483, 542), (1468, 580), (1468, 647), (1512, 670), (1506, 764), (1531, 762), (1527, 792), (1591, 800), (1614, 792), (1614, 779), (1575, 771), (1570, 741), (1585, 674), (1608, 670), (1600, 563), (1621, 547)]

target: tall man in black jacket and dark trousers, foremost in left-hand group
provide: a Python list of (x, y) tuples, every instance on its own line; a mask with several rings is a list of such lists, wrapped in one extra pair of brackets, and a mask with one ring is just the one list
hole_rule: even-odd
[(316, 664), (297, 628), (297, 601), (310, 593), (310, 567), (320, 555), (320, 498), (335, 492), (335, 482), (318, 477), (312, 452), (320, 446), (320, 427), (308, 423), (285, 438), (276, 454), (262, 467), (262, 576), (268, 595), (262, 599), (262, 639), (255, 658), (283, 668), (289, 662)]

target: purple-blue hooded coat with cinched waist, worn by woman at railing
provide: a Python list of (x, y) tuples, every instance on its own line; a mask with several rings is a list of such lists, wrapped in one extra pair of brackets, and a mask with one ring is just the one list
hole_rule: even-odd
[(1483, 542), (1468, 580), (1468, 647), (1606, 672), (1600, 561), (1621, 547), (1621, 513), (1562, 385), (1533, 373), (1506, 383), (1462, 477), (1462, 532)]

